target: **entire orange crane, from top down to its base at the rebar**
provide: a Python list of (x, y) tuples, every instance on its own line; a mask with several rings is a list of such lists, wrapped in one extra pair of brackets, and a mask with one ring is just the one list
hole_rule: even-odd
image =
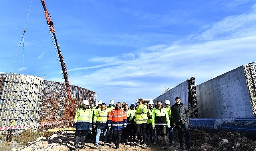
[[(50, 13), (48, 12), (48, 10), (46, 8), (46, 4), (45, 4), (44, 0), (40, 0), (40, 1), (42, 3), (43, 8), (44, 8), (44, 12), (45, 12), (45, 15), (46, 15), (46, 21), (47, 21), (47, 24), (49, 26), (50, 33), (52, 33), (52, 35), (53, 35), (53, 39), (55, 41), (55, 46), (56, 46), (57, 51), (58, 51), (60, 64), (61, 64), (61, 67), (62, 67), (62, 72), (63, 72), (63, 76), (64, 76), (64, 80), (65, 80), (65, 86), (66, 86), (66, 89), (67, 89), (67, 95), (68, 95), (68, 102), (67, 102), (68, 106), (67, 106), (67, 108), (70, 109), (70, 108), (73, 108), (73, 99), (71, 98), (71, 92), (70, 92), (69, 80), (68, 80), (68, 74), (67, 74), (67, 67), (65, 65), (63, 55), (60, 51), (60, 46), (57, 42), (56, 34), (55, 34), (55, 31), (54, 31), (54, 23), (53, 23), (52, 19), (50, 19)], [(72, 116), (73, 117), (74, 111), (73, 110), (68, 110), (66, 113), (67, 113), (67, 116)]]

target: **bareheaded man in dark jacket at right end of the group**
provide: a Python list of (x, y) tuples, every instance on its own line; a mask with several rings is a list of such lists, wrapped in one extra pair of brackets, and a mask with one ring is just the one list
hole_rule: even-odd
[(173, 125), (178, 129), (180, 148), (183, 149), (183, 132), (185, 130), (187, 148), (191, 149), (189, 138), (189, 112), (187, 106), (181, 103), (181, 98), (175, 98), (176, 103), (171, 108), (171, 116), (173, 117)]

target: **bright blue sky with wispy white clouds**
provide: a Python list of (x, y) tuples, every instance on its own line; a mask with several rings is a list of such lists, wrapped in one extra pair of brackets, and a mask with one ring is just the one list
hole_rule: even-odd
[[(198, 85), (255, 62), (255, 0), (45, 2), (70, 84), (107, 104), (154, 99), (193, 76)], [(64, 82), (40, 0), (1, 1), (0, 18), (0, 72)]]

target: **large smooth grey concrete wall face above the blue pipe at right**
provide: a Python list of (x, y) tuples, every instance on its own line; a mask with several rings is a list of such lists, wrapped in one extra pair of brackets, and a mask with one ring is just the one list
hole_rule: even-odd
[(252, 118), (244, 67), (196, 85), (199, 118)]

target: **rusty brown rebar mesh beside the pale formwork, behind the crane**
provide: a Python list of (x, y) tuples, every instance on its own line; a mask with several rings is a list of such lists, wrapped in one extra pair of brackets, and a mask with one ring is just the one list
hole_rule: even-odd
[[(87, 99), (90, 106), (96, 105), (95, 92), (74, 85), (69, 87), (73, 101), (68, 100), (65, 83), (44, 81), (40, 124), (73, 120), (75, 111), (83, 99)], [(63, 122), (58, 125), (41, 126), (39, 130), (70, 127), (71, 124), (72, 122)]]

